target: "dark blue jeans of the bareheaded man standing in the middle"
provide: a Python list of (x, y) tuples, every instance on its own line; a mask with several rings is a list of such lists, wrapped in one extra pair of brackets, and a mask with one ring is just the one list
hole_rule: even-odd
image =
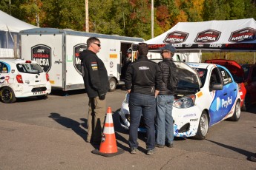
[(155, 133), (154, 133), (154, 118), (156, 115), (156, 101), (153, 95), (144, 95), (141, 93), (130, 94), (129, 109), (131, 123), (129, 128), (129, 146), (137, 148), (139, 143), (138, 128), (140, 125), (140, 118), (143, 115), (145, 128), (147, 130), (147, 150), (154, 149), (155, 145)]

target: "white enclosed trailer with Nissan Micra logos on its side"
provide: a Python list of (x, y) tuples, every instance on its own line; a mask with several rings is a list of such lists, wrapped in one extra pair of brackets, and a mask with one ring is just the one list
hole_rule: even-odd
[(37, 61), (49, 73), (52, 89), (63, 91), (85, 88), (79, 52), (87, 49), (89, 37), (94, 36), (101, 41), (102, 48), (97, 55), (108, 71), (110, 91), (123, 83), (120, 81), (122, 55), (126, 54), (131, 44), (144, 41), (142, 38), (54, 28), (22, 30), (19, 35), (21, 58)]

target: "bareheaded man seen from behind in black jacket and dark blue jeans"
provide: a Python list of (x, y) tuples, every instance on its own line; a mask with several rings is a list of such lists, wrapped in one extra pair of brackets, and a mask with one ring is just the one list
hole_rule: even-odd
[(147, 129), (147, 154), (154, 154), (156, 115), (156, 101), (160, 89), (161, 72), (154, 61), (147, 58), (148, 44), (139, 43), (137, 48), (138, 59), (129, 64), (125, 75), (125, 89), (130, 94), (129, 110), (131, 123), (129, 127), (129, 146), (131, 154), (136, 154), (138, 147), (138, 127), (143, 115)]

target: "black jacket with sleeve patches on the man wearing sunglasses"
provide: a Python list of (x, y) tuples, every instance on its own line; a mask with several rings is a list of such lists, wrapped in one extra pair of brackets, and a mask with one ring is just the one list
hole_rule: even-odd
[(95, 98), (106, 94), (109, 89), (108, 72), (102, 60), (91, 50), (83, 50), (79, 58), (88, 97)]

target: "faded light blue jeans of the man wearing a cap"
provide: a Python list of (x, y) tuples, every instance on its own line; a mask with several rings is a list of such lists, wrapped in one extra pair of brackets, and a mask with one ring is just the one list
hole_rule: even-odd
[(174, 119), (172, 118), (173, 95), (157, 96), (157, 144), (174, 142)]

